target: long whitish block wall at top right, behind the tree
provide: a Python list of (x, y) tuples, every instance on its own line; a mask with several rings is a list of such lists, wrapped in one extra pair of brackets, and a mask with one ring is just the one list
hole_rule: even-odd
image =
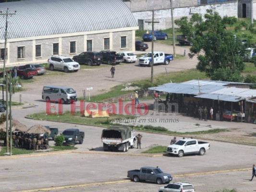
[[(193, 13), (200, 13), (202, 16), (206, 13), (207, 9), (211, 9), (214, 12), (218, 12), (221, 17), (223, 16), (235, 16), (237, 17), (237, 2), (227, 2), (221, 4), (189, 6), (173, 9), (174, 20), (180, 19), (183, 16), (191, 17)], [(152, 11), (133, 12), (134, 18), (137, 20), (140, 30), (151, 30), (152, 24), (145, 22), (152, 21)], [(171, 9), (155, 10), (155, 23), (154, 30), (171, 28)], [(177, 27), (177, 26), (175, 26)]]

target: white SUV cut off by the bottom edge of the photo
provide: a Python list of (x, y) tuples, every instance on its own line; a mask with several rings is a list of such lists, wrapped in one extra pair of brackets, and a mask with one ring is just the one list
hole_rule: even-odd
[(160, 187), (158, 192), (195, 192), (195, 188), (191, 183), (175, 182), (164, 187)]

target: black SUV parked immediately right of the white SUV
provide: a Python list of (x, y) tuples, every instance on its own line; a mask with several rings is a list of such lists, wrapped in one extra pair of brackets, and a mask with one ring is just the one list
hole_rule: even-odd
[(97, 64), (98, 66), (103, 62), (103, 56), (100, 52), (87, 51), (79, 55), (73, 56), (73, 60), (79, 64)]

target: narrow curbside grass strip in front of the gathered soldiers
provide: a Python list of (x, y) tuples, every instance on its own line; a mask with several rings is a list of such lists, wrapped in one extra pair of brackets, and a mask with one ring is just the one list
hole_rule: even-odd
[[(49, 146), (49, 150), (38, 150), (38, 151), (32, 151), (27, 149), (20, 149), (20, 148), (14, 148), (12, 147), (12, 155), (24, 155), (24, 154), (33, 154), (33, 153), (43, 153), (43, 152), (51, 152), (51, 151), (64, 151), (64, 150), (74, 150), (77, 149), (73, 146)], [(5, 156), (6, 153), (6, 147), (1, 147), (0, 156)]]

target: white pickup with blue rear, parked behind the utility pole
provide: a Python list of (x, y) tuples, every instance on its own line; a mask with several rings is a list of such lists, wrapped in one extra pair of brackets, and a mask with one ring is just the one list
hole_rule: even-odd
[[(173, 60), (173, 55), (165, 54), (164, 52), (161, 52), (161, 51), (154, 51), (153, 57), (154, 57), (154, 64), (163, 63), (165, 65), (168, 65), (169, 62)], [(147, 53), (146, 55), (144, 55), (139, 59), (139, 65), (140, 66), (146, 65), (148, 67), (151, 67), (151, 64), (152, 64), (151, 58), (152, 58), (152, 54)]]

